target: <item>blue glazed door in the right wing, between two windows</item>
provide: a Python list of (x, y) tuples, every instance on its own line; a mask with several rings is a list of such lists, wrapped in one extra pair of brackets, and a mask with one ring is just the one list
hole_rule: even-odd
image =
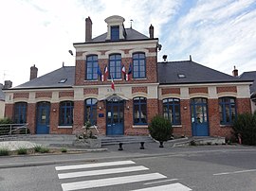
[(207, 99), (192, 98), (191, 112), (192, 136), (209, 136)]

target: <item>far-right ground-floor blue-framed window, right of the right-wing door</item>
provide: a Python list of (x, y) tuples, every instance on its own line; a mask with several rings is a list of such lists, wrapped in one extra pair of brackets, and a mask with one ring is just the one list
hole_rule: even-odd
[(219, 113), (222, 125), (232, 125), (237, 116), (235, 98), (229, 96), (219, 98)]

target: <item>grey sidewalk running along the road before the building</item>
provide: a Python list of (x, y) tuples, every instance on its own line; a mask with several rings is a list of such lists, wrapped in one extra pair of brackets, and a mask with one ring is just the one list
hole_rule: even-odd
[(44, 154), (44, 155), (24, 155), (24, 156), (2, 156), (0, 157), (0, 168), (21, 167), (33, 165), (55, 165), (67, 163), (85, 163), (85, 162), (102, 162), (113, 159), (126, 160), (143, 157), (157, 156), (181, 156), (191, 153), (207, 152), (227, 152), (227, 151), (255, 151), (254, 147), (243, 146), (199, 146), (172, 148), (168, 143), (165, 148), (159, 148), (158, 143), (145, 144), (145, 149), (139, 149), (139, 144), (123, 145), (123, 150), (119, 150), (118, 145), (106, 146), (105, 151), (89, 152), (84, 151), (80, 154)]

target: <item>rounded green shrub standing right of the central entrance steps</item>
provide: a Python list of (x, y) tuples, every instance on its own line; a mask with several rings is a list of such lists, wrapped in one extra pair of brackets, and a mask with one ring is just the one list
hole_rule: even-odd
[(163, 116), (156, 115), (149, 125), (149, 131), (155, 140), (159, 142), (168, 141), (173, 133), (172, 123)]

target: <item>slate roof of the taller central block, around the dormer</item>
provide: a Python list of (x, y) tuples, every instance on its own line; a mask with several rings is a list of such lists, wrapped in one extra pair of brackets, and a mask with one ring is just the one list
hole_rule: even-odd
[[(125, 32), (126, 32), (126, 39), (125, 40), (119, 40), (119, 41), (136, 41), (136, 40), (149, 40), (150, 39), (146, 35), (141, 34), (137, 30), (135, 30), (134, 28), (125, 28)], [(86, 42), (86, 43), (113, 42), (113, 41), (106, 41), (106, 36), (107, 36), (107, 32), (104, 33), (104, 34), (101, 34), (98, 37), (93, 38), (91, 42)], [(114, 41), (114, 42), (119, 42), (119, 41)], [(76, 43), (74, 43), (74, 44), (76, 44)]]

